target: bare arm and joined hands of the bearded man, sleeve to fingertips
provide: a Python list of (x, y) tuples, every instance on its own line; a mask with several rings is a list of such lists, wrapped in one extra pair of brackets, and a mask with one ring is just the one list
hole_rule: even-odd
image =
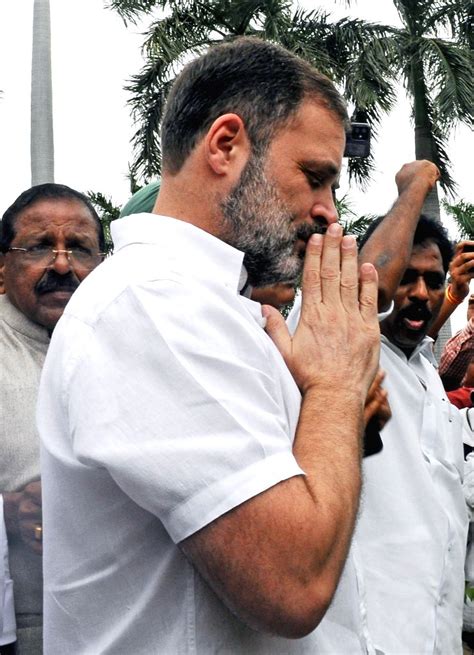
[[(267, 331), (302, 393), (293, 477), (182, 542), (223, 602), (248, 625), (301, 637), (320, 622), (347, 556), (359, 503), (364, 402), (379, 357), (377, 278), (353, 237), (331, 225), (306, 252), (293, 338), (264, 308)], [(348, 380), (350, 384), (348, 384)], [(344, 389), (344, 402), (339, 402)]]

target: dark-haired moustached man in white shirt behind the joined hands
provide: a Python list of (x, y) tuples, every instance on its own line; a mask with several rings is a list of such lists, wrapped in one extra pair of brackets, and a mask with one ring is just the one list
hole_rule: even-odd
[[(421, 215), (415, 225), (414, 231), (399, 227), (405, 233), (385, 239), (375, 258), (381, 296), (390, 299), (399, 280), (394, 309), (381, 323), (392, 420), (381, 432), (382, 452), (364, 461), (355, 533), (369, 631), (386, 655), (461, 652), (467, 537), (462, 421), (426, 336), (443, 303), (453, 248), (439, 222)], [(382, 220), (373, 228), (376, 235), (390, 225)], [(363, 261), (374, 261), (376, 246), (370, 247), (362, 245)]]

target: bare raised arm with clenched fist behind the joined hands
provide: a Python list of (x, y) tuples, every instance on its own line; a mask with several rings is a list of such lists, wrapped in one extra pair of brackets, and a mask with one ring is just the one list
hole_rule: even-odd
[(395, 177), (398, 199), (361, 248), (359, 262), (374, 264), (379, 276), (379, 311), (385, 311), (395, 295), (413, 246), (413, 235), (426, 196), (439, 179), (430, 161), (405, 164)]

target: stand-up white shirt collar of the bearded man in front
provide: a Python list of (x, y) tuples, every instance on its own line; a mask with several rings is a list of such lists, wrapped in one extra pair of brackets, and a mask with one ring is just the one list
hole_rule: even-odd
[(196, 277), (221, 281), (239, 293), (247, 282), (244, 253), (192, 223), (159, 214), (133, 214), (111, 224), (114, 250), (153, 245)]

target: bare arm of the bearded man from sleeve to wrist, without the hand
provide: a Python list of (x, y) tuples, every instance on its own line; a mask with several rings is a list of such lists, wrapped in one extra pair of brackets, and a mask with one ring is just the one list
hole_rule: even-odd
[(304, 477), (280, 482), (182, 543), (255, 629), (285, 637), (313, 630), (344, 566), (360, 493), (363, 401), (332, 411), (333, 404), (332, 394), (316, 390), (303, 399), (294, 453)]

